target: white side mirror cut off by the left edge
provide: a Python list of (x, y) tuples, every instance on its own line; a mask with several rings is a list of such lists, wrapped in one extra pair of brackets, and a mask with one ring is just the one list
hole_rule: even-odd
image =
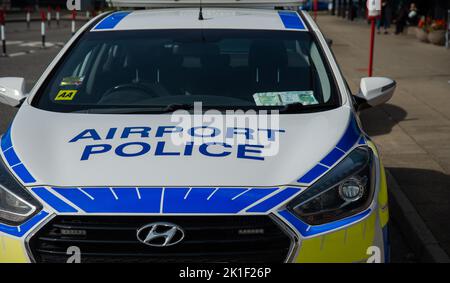
[(0, 78), (0, 102), (17, 107), (27, 98), (24, 78)]

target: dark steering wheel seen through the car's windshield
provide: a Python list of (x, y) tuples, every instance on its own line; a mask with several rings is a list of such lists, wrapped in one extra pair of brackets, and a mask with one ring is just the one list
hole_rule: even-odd
[(130, 103), (147, 99), (150, 97), (159, 97), (155, 91), (144, 84), (140, 83), (128, 83), (117, 85), (108, 89), (100, 99), (100, 103), (112, 102), (114, 100), (120, 100), (121, 103)]

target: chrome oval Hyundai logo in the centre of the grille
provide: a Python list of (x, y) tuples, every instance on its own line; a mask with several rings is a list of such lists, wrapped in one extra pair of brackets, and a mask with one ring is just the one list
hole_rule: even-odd
[(137, 230), (138, 240), (153, 247), (168, 247), (178, 244), (184, 238), (180, 226), (168, 222), (147, 224)]

